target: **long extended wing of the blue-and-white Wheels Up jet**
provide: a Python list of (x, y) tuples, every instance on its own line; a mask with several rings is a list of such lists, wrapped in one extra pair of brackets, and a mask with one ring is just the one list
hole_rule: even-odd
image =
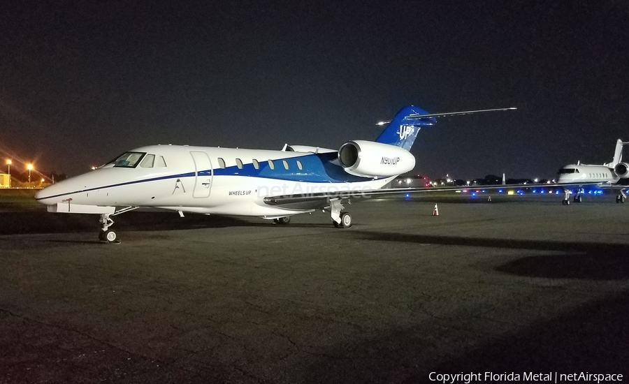
[(264, 198), (266, 205), (273, 205), (285, 209), (323, 209), (330, 205), (330, 200), (354, 200), (360, 198), (373, 198), (384, 195), (403, 195), (406, 193), (431, 193), (444, 191), (484, 191), (498, 189), (531, 189), (531, 188), (578, 188), (583, 186), (600, 186), (600, 183), (580, 183), (580, 184), (506, 184), (506, 185), (484, 185), (484, 186), (442, 186), (442, 187), (420, 187), (420, 188), (391, 188), (391, 189), (368, 189), (354, 191), (336, 191), (326, 193), (305, 193), (296, 195), (277, 195)]

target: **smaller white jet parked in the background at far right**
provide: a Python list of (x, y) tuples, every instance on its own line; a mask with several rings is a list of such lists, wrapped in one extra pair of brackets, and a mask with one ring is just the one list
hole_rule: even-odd
[[(623, 142), (618, 139), (616, 141), (616, 149), (614, 150), (614, 158), (611, 163), (605, 163), (602, 165), (594, 164), (576, 164), (565, 165), (561, 168), (557, 175), (557, 184), (577, 184), (577, 193), (574, 195), (574, 202), (581, 202), (584, 190), (581, 184), (598, 183), (598, 186), (602, 188), (619, 189), (619, 194), (616, 195), (616, 202), (625, 202), (627, 195), (625, 190), (627, 186), (621, 186), (622, 179), (629, 179), (629, 163), (623, 163), (623, 145), (629, 144), (629, 142)], [(564, 189), (565, 198), (563, 204), (566, 205), (570, 202), (570, 190)]]

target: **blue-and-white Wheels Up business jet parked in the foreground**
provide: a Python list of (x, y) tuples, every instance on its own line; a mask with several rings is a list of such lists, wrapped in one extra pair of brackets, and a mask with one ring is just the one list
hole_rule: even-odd
[(286, 224), (290, 216), (330, 212), (337, 228), (352, 226), (343, 210), (349, 198), (392, 193), (380, 190), (409, 172), (409, 152), (423, 126), (436, 117), (501, 108), (429, 114), (414, 106), (400, 110), (375, 141), (352, 140), (340, 149), (303, 145), (281, 151), (151, 145), (132, 149), (96, 170), (46, 187), (36, 200), (49, 212), (99, 214), (99, 239), (117, 242), (111, 216), (138, 207), (237, 216)]

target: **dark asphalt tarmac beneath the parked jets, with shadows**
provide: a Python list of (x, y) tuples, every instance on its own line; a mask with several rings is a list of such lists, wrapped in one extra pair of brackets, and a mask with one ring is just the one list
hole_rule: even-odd
[(371, 199), (347, 229), (129, 212), (121, 244), (0, 210), (0, 383), (626, 380), (629, 204), (477, 202)]

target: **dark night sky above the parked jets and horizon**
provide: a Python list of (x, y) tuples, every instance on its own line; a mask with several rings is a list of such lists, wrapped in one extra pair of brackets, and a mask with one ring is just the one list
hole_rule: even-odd
[(554, 178), (629, 140), (628, 20), (624, 0), (3, 1), (0, 156), (78, 175), (143, 145), (338, 149), (405, 105), (516, 106), (423, 128), (417, 172)]

